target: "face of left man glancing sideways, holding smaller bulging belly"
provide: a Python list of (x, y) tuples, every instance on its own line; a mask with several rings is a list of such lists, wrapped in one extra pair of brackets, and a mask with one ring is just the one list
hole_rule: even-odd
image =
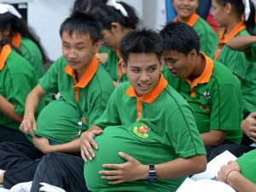
[(61, 35), (62, 54), (73, 70), (84, 73), (96, 53), (96, 43), (89, 34), (73, 32), (70, 36), (66, 31)]

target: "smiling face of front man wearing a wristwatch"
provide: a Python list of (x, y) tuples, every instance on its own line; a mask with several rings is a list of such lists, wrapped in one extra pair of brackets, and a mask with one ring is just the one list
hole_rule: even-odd
[(160, 80), (164, 60), (156, 54), (129, 54), (127, 64), (123, 64), (131, 86), (139, 97), (150, 93)]

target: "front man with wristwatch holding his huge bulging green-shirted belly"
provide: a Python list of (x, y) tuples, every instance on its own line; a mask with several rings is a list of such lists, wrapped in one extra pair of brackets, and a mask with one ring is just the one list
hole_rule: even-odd
[(162, 48), (154, 31), (131, 31), (122, 38), (129, 82), (115, 88), (107, 109), (80, 137), (88, 189), (174, 191), (205, 170), (193, 110), (160, 73)]

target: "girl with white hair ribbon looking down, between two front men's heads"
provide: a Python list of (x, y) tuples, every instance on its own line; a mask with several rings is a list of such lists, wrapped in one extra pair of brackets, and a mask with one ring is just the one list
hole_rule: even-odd
[(108, 62), (104, 68), (117, 87), (119, 83), (127, 81), (127, 76), (121, 68), (122, 57), (119, 53), (119, 42), (125, 33), (137, 28), (139, 19), (135, 9), (129, 4), (115, 2), (113, 1), (113, 6), (103, 4), (97, 6), (91, 14), (102, 24), (102, 44), (113, 51), (108, 54)]

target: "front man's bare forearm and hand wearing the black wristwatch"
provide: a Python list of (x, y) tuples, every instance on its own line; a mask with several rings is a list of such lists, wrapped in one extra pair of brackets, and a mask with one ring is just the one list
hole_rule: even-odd
[[(111, 180), (110, 184), (120, 184), (139, 179), (148, 178), (148, 165), (142, 165), (139, 161), (119, 153), (126, 160), (123, 164), (104, 164), (103, 167), (112, 170), (102, 170), (102, 178)], [(207, 167), (206, 155), (195, 155), (189, 158), (177, 158), (173, 161), (155, 165), (155, 172), (158, 178), (170, 179), (189, 176), (195, 173), (203, 172)]]

